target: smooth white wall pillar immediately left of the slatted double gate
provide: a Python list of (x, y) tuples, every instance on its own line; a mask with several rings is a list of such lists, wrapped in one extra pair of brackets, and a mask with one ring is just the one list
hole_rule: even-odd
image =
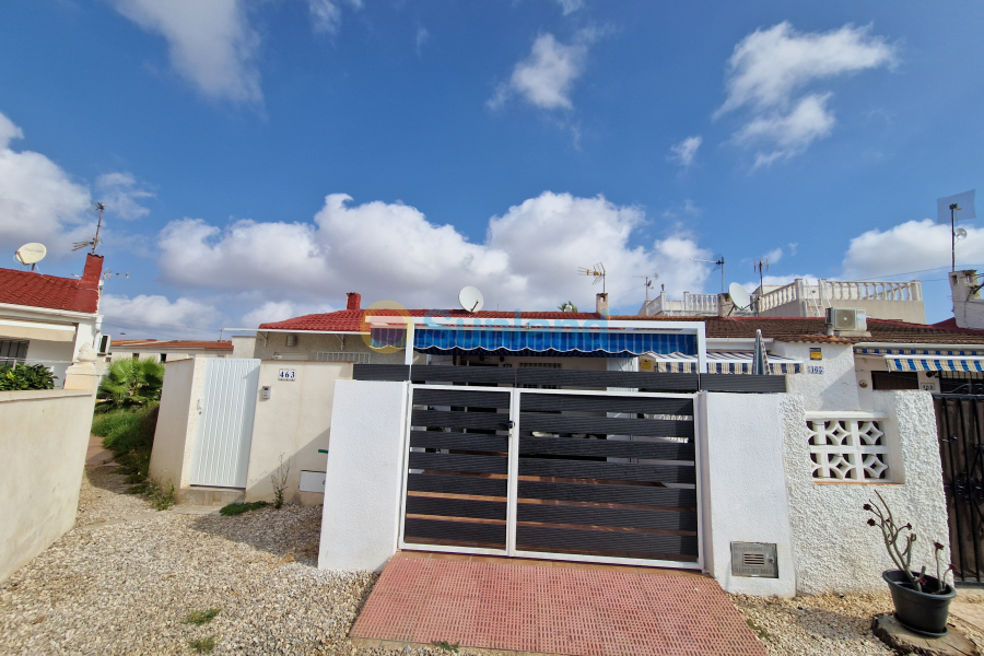
[(338, 380), (318, 567), (380, 570), (397, 549), (408, 384)]

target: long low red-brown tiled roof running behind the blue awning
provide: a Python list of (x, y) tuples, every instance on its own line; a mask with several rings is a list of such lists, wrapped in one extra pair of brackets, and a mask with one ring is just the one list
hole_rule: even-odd
[[(444, 316), (450, 318), (477, 317), (481, 319), (512, 319), (511, 312), (477, 312), (464, 309), (407, 311), (412, 317)], [(326, 314), (305, 315), (284, 321), (261, 324), (259, 329), (270, 330), (318, 330), (329, 332), (360, 332), (364, 330), (364, 309), (341, 309)], [(373, 311), (371, 316), (398, 316), (397, 311)], [(596, 313), (569, 312), (524, 312), (524, 319), (599, 319)], [(905, 324), (886, 319), (868, 319), (870, 337), (829, 337), (823, 318), (800, 317), (643, 317), (636, 315), (611, 316), (618, 321), (703, 321), (708, 338), (753, 338), (755, 330), (762, 330), (766, 338), (790, 342), (822, 343), (860, 343), (860, 342), (895, 342), (895, 343), (946, 343), (946, 344), (984, 344), (984, 330), (957, 328), (948, 321), (935, 326)]]

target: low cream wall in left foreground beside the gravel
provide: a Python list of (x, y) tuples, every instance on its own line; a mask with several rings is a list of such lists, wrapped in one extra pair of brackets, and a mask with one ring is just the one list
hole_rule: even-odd
[(75, 523), (92, 391), (0, 391), (0, 582)]

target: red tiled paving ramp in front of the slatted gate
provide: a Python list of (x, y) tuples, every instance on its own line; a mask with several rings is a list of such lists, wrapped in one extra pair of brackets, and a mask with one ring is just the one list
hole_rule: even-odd
[(402, 554), (349, 635), (569, 656), (765, 656), (711, 578)]

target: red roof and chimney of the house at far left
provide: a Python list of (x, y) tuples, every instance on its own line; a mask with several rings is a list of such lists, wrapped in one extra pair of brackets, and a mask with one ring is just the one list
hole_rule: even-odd
[(95, 314), (103, 257), (89, 255), (81, 279), (0, 269), (0, 303)]

